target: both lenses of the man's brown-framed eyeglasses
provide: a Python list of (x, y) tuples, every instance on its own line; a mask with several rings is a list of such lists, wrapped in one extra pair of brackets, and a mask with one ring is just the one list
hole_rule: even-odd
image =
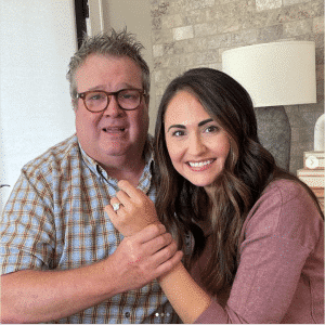
[[(84, 104), (89, 110), (104, 110), (109, 104), (109, 96), (103, 91), (91, 91), (84, 95)], [(115, 98), (121, 108), (134, 109), (140, 105), (141, 92), (135, 89), (126, 89), (115, 93)]]

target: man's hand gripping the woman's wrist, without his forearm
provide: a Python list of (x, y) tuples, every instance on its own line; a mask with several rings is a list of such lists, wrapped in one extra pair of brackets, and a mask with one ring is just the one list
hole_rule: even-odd
[[(182, 259), (177, 244), (162, 224), (151, 224), (125, 237), (108, 258), (118, 270), (119, 291), (138, 289), (171, 271)], [(107, 270), (107, 274), (112, 274)]]

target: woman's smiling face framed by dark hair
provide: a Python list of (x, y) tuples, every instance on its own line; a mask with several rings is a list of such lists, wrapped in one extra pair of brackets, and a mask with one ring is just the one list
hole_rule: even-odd
[(174, 169), (208, 191), (224, 168), (230, 138), (192, 93), (180, 91), (170, 101), (165, 136)]

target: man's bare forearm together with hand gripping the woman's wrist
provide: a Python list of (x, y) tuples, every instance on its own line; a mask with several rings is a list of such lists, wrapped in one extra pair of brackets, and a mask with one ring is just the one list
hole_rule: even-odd
[(64, 271), (23, 270), (1, 275), (1, 323), (53, 324), (113, 296), (138, 289), (182, 259), (162, 224), (126, 237), (96, 263)]

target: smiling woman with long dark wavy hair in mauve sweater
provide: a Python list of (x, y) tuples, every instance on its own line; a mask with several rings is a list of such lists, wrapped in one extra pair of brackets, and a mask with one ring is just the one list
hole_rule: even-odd
[(107, 212), (125, 235), (164, 223), (190, 255), (160, 285), (184, 323), (324, 322), (324, 214), (275, 165), (251, 100), (227, 75), (186, 72), (168, 86), (155, 131), (156, 211), (127, 182)]

